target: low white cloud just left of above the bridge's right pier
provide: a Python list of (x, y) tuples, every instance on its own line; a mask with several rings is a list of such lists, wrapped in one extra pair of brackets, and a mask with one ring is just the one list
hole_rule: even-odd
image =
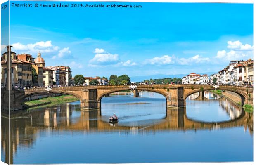
[(162, 57), (154, 57), (153, 59), (146, 59), (144, 64), (151, 65), (166, 65), (166, 64), (174, 64), (175, 56), (164, 55)]

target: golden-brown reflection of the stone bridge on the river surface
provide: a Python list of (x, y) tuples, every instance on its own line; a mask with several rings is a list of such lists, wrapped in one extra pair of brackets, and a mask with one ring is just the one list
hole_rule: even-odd
[[(33, 146), (33, 142), (40, 131), (81, 131), (81, 132), (127, 132), (132, 134), (147, 134), (147, 132), (171, 131), (171, 130), (216, 130), (226, 127), (244, 126), (253, 134), (253, 113), (247, 113), (243, 108), (236, 106), (232, 102), (221, 99), (220, 106), (230, 115), (231, 120), (223, 122), (204, 122), (193, 120), (186, 115), (185, 108), (168, 108), (166, 117), (158, 123), (145, 126), (126, 126), (120, 123), (111, 124), (102, 118), (100, 111), (80, 111), (80, 106), (72, 103), (60, 105), (55, 108), (45, 110), (20, 111), (11, 115), (10, 130), (8, 118), (2, 113), (1, 116), (1, 146), (5, 153), (5, 162), (13, 163), (13, 156), (17, 152), (17, 147)], [(10, 131), (10, 132), (9, 132)], [(10, 142), (9, 142), (10, 134)], [(9, 146), (10, 144), (10, 146)], [(10, 153), (6, 153), (10, 149)], [(10, 155), (10, 161), (9, 161)]]

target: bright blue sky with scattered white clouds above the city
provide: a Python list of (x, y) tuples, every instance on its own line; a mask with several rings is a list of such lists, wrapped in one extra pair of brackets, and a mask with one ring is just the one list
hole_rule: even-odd
[(28, 3), (33, 7), (10, 7), (12, 50), (35, 58), (40, 51), (46, 66), (70, 66), (73, 76), (208, 73), (231, 60), (253, 59), (253, 4), (77, 2), (142, 6), (93, 8)]

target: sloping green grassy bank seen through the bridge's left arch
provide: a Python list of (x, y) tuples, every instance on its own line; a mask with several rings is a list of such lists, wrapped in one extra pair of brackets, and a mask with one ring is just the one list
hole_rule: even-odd
[(26, 101), (24, 104), (27, 106), (27, 108), (43, 108), (47, 106), (67, 103), (67, 102), (73, 102), (78, 101), (76, 97), (73, 97), (72, 95), (64, 95), (64, 96), (57, 96), (57, 97), (47, 97), (43, 99), (38, 100), (32, 100), (32, 101)]

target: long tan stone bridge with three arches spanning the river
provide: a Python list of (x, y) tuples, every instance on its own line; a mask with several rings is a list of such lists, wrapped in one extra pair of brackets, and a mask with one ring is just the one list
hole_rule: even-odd
[[(228, 90), (239, 94), (241, 104), (253, 103), (253, 88), (240, 87), (230, 85), (220, 85), (220, 90)], [(10, 91), (10, 109), (23, 109), (26, 97), (34, 94), (45, 93), (62, 93), (71, 94), (80, 100), (81, 109), (93, 110), (101, 108), (101, 99), (114, 92), (122, 90), (130, 90), (129, 85), (88, 85), (88, 86), (72, 86), (72, 87), (53, 87), (50, 91), (46, 88), (34, 88), (27, 90), (11, 90)], [(186, 106), (186, 98), (191, 94), (199, 92), (203, 97), (205, 90), (215, 90), (212, 85), (137, 85), (133, 90), (134, 95), (138, 96), (140, 91), (149, 91), (162, 94), (166, 98), (167, 108), (179, 108)], [(2, 98), (8, 98), (8, 92), (2, 90)], [(9, 109), (8, 99), (1, 99), (1, 108)]]

